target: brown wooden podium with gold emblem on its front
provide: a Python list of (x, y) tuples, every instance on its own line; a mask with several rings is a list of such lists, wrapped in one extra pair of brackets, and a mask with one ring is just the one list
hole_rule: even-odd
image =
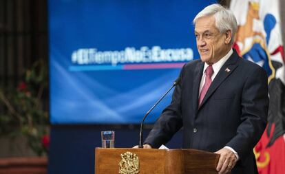
[(131, 170), (134, 171), (136, 160), (129, 161), (127, 157), (138, 160), (140, 174), (217, 174), (215, 168), (220, 155), (194, 149), (96, 148), (95, 173), (117, 174), (125, 166), (132, 166)]

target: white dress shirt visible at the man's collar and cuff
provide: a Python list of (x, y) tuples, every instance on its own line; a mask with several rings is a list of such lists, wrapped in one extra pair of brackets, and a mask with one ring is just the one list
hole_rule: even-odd
[[(232, 49), (226, 54), (226, 56), (221, 58), (220, 61), (218, 61), (217, 63), (214, 63), (212, 65), (212, 67), (213, 67), (213, 75), (211, 76), (212, 82), (213, 82), (215, 76), (217, 76), (218, 72), (220, 71), (222, 65), (224, 65), (224, 63), (226, 63), (226, 61), (229, 59), (231, 54), (233, 54), (233, 50)], [(207, 63), (204, 63), (203, 76), (201, 78), (200, 88), (199, 88), (199, 97), (200, 97), (200, 93), (202, 91), (202, 87), (204, 86), (204, 83), (205, 83), (205, 80), (206, 80), (206, 69), (207, 69), (207, 67), (209, 67), (209, 65)], [(235, 153), (235, 157), (237, 157), (237, 160), (239, 159), (239, 156), (238, 156), (237, 152), (235, 150), (233, 150), (233, 148), (231, 148), (230, 146), (224, 146), (224, 147), (226, 149), (231, 150), (233, 153)]]

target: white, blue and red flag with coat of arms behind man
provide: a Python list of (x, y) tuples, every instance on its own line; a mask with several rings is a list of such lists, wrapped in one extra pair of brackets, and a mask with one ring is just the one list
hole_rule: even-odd
[(254, 152), (260, 174), (285, 173), (285, 68), (279, 0), (231, 1), (237, 18), (234, 47), (268, 74), (268, 124)]

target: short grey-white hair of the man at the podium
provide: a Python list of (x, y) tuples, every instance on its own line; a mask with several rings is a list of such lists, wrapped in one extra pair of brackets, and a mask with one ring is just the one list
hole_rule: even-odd
[(235, 41), (235, 32), (237, 31), (237, 20), (231, 10), (224, 8), (220, 4), (214, 3), (204, 8), (196, 15), (193, 24), (195, 25), (200, 17), (208, 17), (211, 15), (215, 17), (215, 27), (218, 28), (221, 33), (231, 30), (231, 44), (233, 44)]

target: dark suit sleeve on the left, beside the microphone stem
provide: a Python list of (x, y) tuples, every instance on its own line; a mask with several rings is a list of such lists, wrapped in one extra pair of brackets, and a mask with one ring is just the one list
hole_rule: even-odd
[(182, 127), (180, 100), (183, 69), (184, 67), (180, 72), (180, 83), (176, 85), (173, 91), (171, 104), (162, 111), (160, 117), (154, 124), (154, 128), (149, 132), (144, 144), (150, 144), (153, 148), (158, 148), (161, 144), (166, 144)]

